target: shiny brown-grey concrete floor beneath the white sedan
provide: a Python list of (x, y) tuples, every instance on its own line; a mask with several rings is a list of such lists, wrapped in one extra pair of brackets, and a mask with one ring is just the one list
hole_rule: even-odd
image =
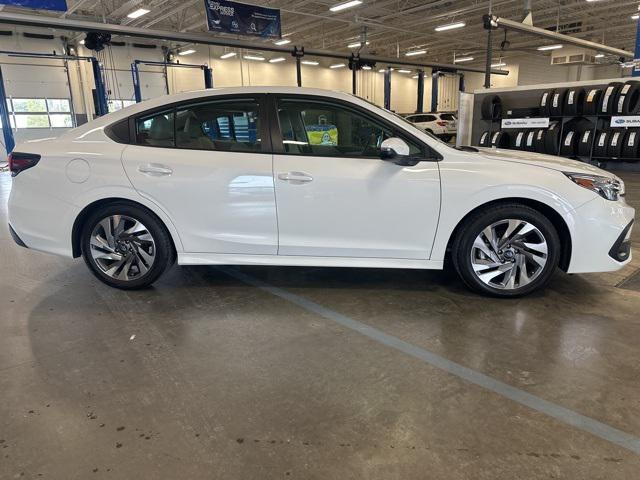
[[(624, 177), (640, 206), (640, 174)], [(640, 258), (513, 301), (442, 272), (321, 268), (181, 267), (127, 293), (81, 260), (15, 246), (9, 189), (1, 174), (1, 479), (640, 476), (637, 453), (567, 411), (552, 418), (345, 323), (637, 439)]]

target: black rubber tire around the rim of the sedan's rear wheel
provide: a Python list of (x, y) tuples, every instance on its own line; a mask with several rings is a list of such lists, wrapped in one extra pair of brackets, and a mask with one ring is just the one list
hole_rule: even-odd
[[(91, 234), (96, 225), (112, 215), (123, 215), (141, 222), (153, 238), (155, 243), (155, 258), (149, 270), (143, 275), (130, 279), (119, 280), (107, 275), (96, 264), (90, 253)], [(146, 288), (155, 282), (164, 273), (168, 266), (174, 262), (174, 248), (171, 236), (162, 221), (144, 207), (138, 207), (129, 203), (111, 203), (91, 213), (85, 220), (80, 234), (82, 257), (89, 270), (102, 282), (123, 290), (136, 290)]]

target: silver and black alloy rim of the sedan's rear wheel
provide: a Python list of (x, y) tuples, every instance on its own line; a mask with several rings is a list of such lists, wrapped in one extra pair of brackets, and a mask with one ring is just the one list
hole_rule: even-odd
[(91, 232), (90, 248), (97, 267), (122, 281), (144, 276), (156, 258), (156, 244), (147, 227), (126, 215), (100, 220)]

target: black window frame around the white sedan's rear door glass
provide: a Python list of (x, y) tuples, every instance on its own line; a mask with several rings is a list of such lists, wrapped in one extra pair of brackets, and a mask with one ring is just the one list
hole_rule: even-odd
[[(220, 150), (203, 150), (199, 148), (184, 148), (176, 146), (176, 123), (175, 123), (175, 115), (179, 110), (184, 110), (188, 108), (190, 105), (202, 104), (202, 103), (212, 103), (217, 101), (255, 101), (258, 103), (258, 121), (260, 122), (260, 150), (247, 150), (247, 151), (220, 151)], [(267, 115), (267, 95), (264, 93), (255, 93), (255, 94), (229, 94), (229, 95), (210, 95), (204, 97), (190, 98), (188, 100), (181, 100), (179, 102), (167, 103), (165, 105), (150, 108), (145, 110), (144, 112), (136, 113), (135, 115), (131, 115), (128, 117), (129, 121), (129, 145), (134, 145), (136, 147), (146, 147), (146, 148), (168, 148), (174, 150), (187, 150), (187, 151), (197, 151), (197, 152), (218, 152), (218, 153), (255, 153), (255, 154), (272, 154), (271, 149), (271, 135), (269, 132), (269, 122)], [(150, 115), (154, 115), (155, 113), (162, 112), (171, 112), (174, 115), (174, 123), (173, 123), (173, 146), (171, 147), (159, 147), (155, 145), (142, 145), (137, 142), (137, 132), (136, 132), (136, 122), (143, 118), (148, 117)], [(122, 121), (122, 120), (119, 120)], [(116, 124), (118, 122), (114, 122)]]

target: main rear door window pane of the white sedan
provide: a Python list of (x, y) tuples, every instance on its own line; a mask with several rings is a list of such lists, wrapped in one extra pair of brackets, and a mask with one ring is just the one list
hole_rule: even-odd
[(258, 108), (254, 100), (219, 100), (180, 107), (176, 112), (176, 146), (260, 151)]

